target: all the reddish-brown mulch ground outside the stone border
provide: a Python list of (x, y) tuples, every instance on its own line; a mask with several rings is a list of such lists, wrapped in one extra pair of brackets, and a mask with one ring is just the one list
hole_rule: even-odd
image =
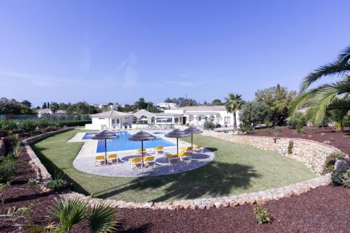
[[(332, 129), (325, 130), (330, 130), (330, 134), (319, 136), (321, 142), (328, 140), (328, 136), (334, 136), (336, 140), (332, 141), (332, 146), (336, 146), (335, 142), (339, 139), (344, 144), (337, 147), (343, 148), (344, 152), (349, 151), (346, 141), (349, 138), (340, 139), (342, 134), (331, 132)], [(255, 131), (255, 135), (259, 134)], [(281, 136), (288, 136), (288, 129), (283, 128)], [(318, 136), (311, 140), (314, 139)], [(27, 184), (29, 178), (36, 177), (29, 161), (29, 155), (22, 150), (17, 159), (18, 174), (13, 177), (13, 185), (0, 192), (0, 215), (6, 214), (13, 206), (20, 208), (34, 204), (34, 207), (14, 222), (9, 220), (13, 217), (1, 217), (0, 232), (18, 230), (18, 227), (10, 226), (14, 224), (45, 226), (54, 221), (49, 211), (57, 195), (55, 192), (43, 192), (39, 185)], [(265, 225), (257, 223), (253, 206), (248, 204), (209, 210), (119, 209), (121, 223), (118, 232), (350, 232), (350, 189), (328, 185), (300, 196), (267, 202), (264, 206), (274, 217), (272, 223)], [(87, 223), (75, 225), (71, 232), (88, 232)]]

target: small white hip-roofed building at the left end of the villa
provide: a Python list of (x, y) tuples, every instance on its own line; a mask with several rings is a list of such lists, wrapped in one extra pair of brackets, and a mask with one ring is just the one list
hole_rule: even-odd
[(106, 111), (90, 115), (91, 124), (86, 124), (85, 129), (122, 129), (125, 126), (132, 125), (134, 115), (132, 113), (122, 113), (118, 111)]

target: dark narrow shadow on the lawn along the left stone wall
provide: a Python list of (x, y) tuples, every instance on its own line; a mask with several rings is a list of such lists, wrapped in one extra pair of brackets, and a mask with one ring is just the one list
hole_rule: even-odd
[[(69, 177), (62, 169), (56, 166), (51, 160), (49, 160), (45, 155), (43, 155), (42, 151), (45, 150), (45, 148), (37, 147), (33, 144), (30, 145), (31, 149), (34, 150), (34, 153), (36, 156), (38, 156), (38, 159), (41, 161), (41, 163), (45, 166), (45, 168), (48, 170), (48, 172), (51, 174), (53, 178), (55, 178), (55, 174), (64, 174), (64, 179), (68, 181), (69, 183), (73, 183), (73, 190), (76, 192), (80, 192), (83, 195), (90, 195), (89, 192), (87, 192), (83, 187), (81, 187), (76, 181), (74, 181), (71, 177)], [(64, 158), (62, 158), (63, 160)]]

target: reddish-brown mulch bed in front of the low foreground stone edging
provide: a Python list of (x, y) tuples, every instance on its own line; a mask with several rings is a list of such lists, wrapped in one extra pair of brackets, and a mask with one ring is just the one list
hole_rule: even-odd
[(350, 190), (325, 186), (267, 202), (272, 223), (259, 225), (253, 206), (209, 210), (120, 209), (122, 232), (350, 232)]

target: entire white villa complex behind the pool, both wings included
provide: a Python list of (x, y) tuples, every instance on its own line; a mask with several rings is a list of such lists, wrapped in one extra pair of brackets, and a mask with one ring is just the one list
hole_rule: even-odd
[[(239, 114), (236, 113), (237, 125)], [(125, 125), (194, 125), (202, 126), (212, 121), (221, 127), (233, 125), (233, 114), (226, 111), (225, 106), (188, 106), (165, 110), (164, 113), (150, 113), (144, 109), (136, 113), (107, 111), (91, 115), (92, 124), (86, 129), (122, 129)]]

